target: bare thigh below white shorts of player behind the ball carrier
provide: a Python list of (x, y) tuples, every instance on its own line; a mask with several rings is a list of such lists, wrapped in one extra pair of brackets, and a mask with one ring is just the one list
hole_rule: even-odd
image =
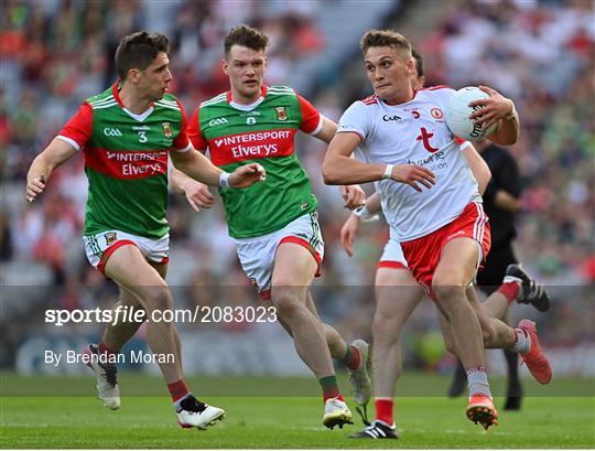
[(423, 290), (409, 269), (380, 267), (376, 271), (375, 324), (382, 323), (398, 333), (422, 299)]

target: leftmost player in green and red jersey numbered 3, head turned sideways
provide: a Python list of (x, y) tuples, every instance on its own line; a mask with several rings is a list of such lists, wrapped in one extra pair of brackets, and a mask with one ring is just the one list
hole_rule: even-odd
[[(147, 340), (167, 383), (177, 422), (184, 428), (206, 428), (221, 419), (224, 411), (190, 393), (177, 331), (159, 315), (173, 308), (164, 281), (169, 259), (167, 154), (188, 176), (210, 185), (246, 187), (262, 180), (264, 172), (252, 164), (230, 174), (194, 150), (184, 110), (166, 94), (172, 80), (169, 50), (162, 34), (137, 32), (121, 41), (116, 52), (120, 79), (85, 101), (35, 158), (26, 176), (26, 198), (34, 201), (56, 167), (77, 151), (84, 152), (89, 180), (84, 232), (87, 257), (120, 288), (115, 315), (123, 308), (144, 312)], [(108, 408), (120, 406), (117, 354), (140, 324), (110, 324), (101, 343), (85, 350), (97, 377), (98, 397)]]

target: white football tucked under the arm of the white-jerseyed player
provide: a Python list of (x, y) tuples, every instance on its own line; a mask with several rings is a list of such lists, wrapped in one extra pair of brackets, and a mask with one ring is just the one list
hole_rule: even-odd
[(482, 108), (469, 107), (469, 103), (487, 97), (489, 97), (487, 93), (475, 86), (461, 88), (453, 95), (446, 110), (446, 125), (455, 136), (468, 141), (477, 141), (496, 130), (498, 122), (487, 130), (482, 130), (482, 125), (473, 124), (473, 119), (469, 119), (472, 112)]

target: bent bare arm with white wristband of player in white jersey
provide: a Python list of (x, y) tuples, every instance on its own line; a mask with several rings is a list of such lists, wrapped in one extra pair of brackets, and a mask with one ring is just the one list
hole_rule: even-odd
[(375, 182), (391, 179), (422, 191), (418, 183), (430, 189), (435, 184), (435, 175), (416, 164), (364, 163), (350, 158), (361, 138), (356, 132), (344, 131), (335, 135), (323, 161), (323, 179), (327, 185)]

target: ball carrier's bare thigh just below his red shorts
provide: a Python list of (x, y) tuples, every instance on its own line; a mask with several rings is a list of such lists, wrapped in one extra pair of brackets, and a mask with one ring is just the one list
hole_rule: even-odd
[(465, 288), (475, 277), (479, 264), (479, 245), (473, 238), (455, 238), (444, 245), (432, 278), (432, 287)]

